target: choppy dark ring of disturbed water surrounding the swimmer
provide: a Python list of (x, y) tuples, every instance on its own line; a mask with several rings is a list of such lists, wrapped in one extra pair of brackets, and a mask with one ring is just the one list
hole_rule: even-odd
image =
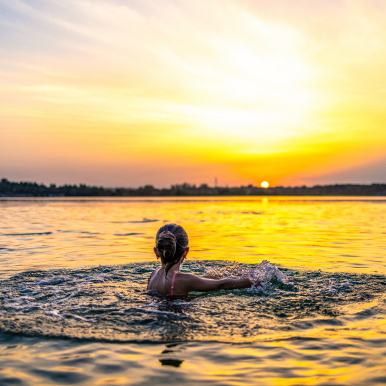
[(0, 332), (131, 341), (251, 341), (384, 318), (386, 277), (186, 262), (184, 272), (248, 275), (263, 287), (169, 300), (146, 293), (156, 263), (28, 271), (0, 281)]

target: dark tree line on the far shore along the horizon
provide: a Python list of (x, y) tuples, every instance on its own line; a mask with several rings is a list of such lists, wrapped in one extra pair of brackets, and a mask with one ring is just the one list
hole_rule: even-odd
[(336, 184), (312, 187), (275, 186), (260, 188), (253, 185), (239, 187), (210, 187), (188, 183), (157, 189), (152, 185), (139, 188), (103, 188), (97, 186), (48, 186), (35, 182), (0, 182), (0, 197), (152, 197), (152, 196), (386, 196), (386, 184)]

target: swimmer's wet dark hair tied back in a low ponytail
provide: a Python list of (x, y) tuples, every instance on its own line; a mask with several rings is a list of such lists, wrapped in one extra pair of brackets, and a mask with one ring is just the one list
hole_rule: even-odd
[(181, 225), (166, 224), (158, 229), (155, 247), (165, 269), (165, 277), (169, 269), (180, 261), (188, 243), (188, 235)]

